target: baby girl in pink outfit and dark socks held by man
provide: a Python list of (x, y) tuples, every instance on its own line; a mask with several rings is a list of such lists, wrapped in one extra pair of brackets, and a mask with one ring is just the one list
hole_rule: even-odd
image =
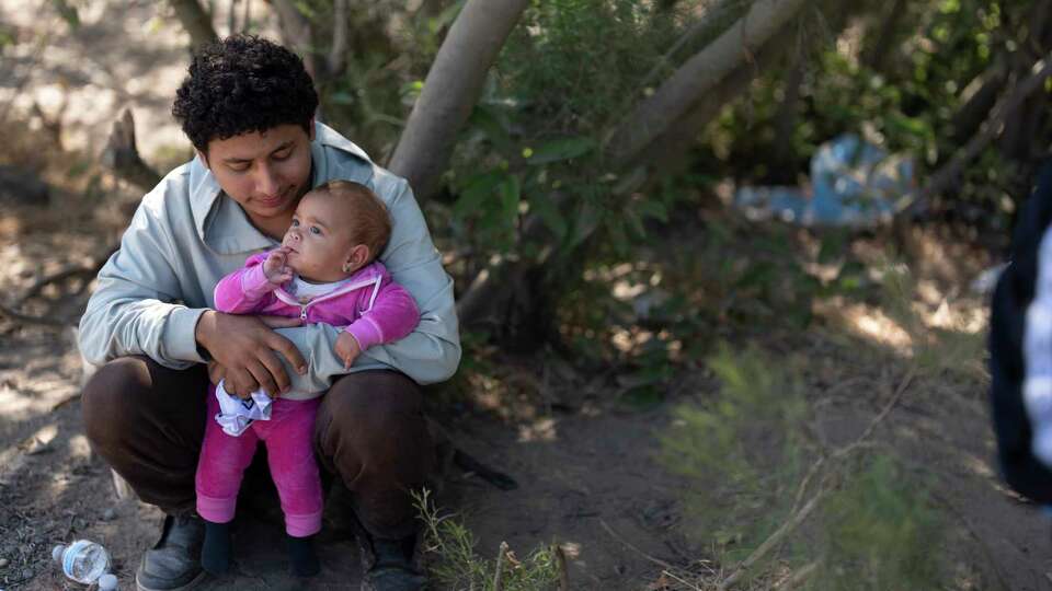
[[(249, 257), (219, 281), (216, 309), (339, 327), (335, 352), (350, 368), (363, 350), (404, 337), (420, 321), (412, 296), (375, 260), (390, 233), (387, 209), (371, 190), (331, 181), (304, 195), (281, 247)], [(270, 401), (260, 391), (240, 401), (224, 385), (208, 397), (208, 416), (216, 420), (205, 428), (197, 464), (197, 512), (205, 520), (202, 566), (215, 575), (229, 568), (229, 522), (244, 470), (262, 440), (285, 513), (293, 572), (316, 575), (311, 538), (321, 530), (322, 495), (311, 437), (324, 393), (293, 391)], [(256, 403), (270, 405), (268, 419), (229, 413), (240, 404), (251, 410)]]

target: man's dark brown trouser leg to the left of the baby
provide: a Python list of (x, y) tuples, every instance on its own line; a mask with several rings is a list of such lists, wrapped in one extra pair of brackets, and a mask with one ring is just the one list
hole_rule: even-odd
[(205, 366), (172, 370), (146, 357), (111, 361), (84, 385), (92, 448), (142, 501), (167, 513), (194, 508), (207, 389)]

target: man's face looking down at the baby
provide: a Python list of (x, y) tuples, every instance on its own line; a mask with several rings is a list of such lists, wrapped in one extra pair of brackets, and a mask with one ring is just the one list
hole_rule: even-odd
[(208, 142), (203, 154), (219, 186), (264, 233), (279, 236), (309, 189), (310, 140), (298, 125), (279, 125)]

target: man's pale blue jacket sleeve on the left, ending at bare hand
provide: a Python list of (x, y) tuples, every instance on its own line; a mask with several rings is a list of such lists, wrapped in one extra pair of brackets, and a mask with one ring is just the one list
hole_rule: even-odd
[(204, 361), (194, 332), (206, 309), (179, 303), (178, 258), (164, 210), (168, 183), (142, 198), (121, 247), (99, 271), (78, 333), (90, 363), (128, 355), (146, 355), (173, 369)]

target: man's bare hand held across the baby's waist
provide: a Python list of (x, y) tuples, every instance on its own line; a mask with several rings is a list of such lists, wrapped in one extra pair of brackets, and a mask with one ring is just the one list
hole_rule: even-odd
[[(287, 392), (291, 382), (275, 351), (282, 354), (299, 374), (307, 372), (307, 361), (291, 340), (272, 328), (299, 326), (299, 318), (238, 316), (209, 310), (197, 322), (197, 343), (208, 349), (224, 369), (227, 392), (248, 397), (263, 389), (272, 398)], [(209, 378), (213, 378), (209, 364)]]

